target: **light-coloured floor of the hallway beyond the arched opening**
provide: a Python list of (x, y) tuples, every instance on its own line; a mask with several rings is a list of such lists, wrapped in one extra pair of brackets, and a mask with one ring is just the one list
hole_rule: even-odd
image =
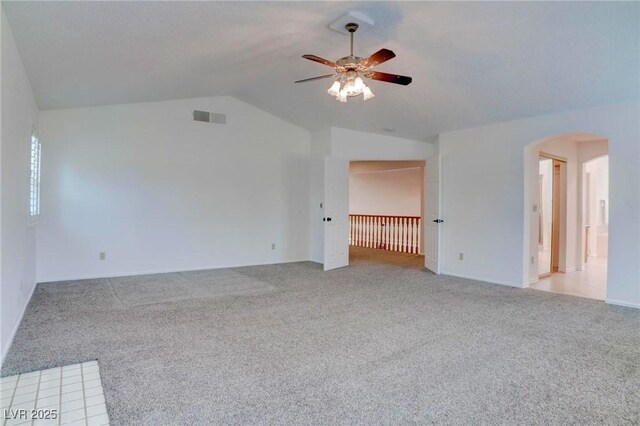
[(605, 300), (607, 295), (607, 259), (590, 257), (583, 271), (554, 273), (529, 288), (569, 296)]

